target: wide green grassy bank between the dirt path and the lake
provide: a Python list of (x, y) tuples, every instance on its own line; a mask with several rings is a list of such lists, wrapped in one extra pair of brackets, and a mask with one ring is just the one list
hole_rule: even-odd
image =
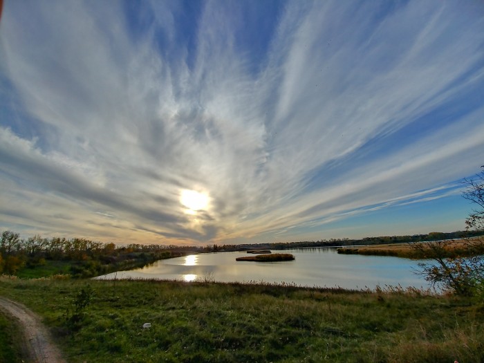
[(68, 362), (484, 361), (482, 304), (419, 291), (1, 278), (0, 295), (43, 317)]

